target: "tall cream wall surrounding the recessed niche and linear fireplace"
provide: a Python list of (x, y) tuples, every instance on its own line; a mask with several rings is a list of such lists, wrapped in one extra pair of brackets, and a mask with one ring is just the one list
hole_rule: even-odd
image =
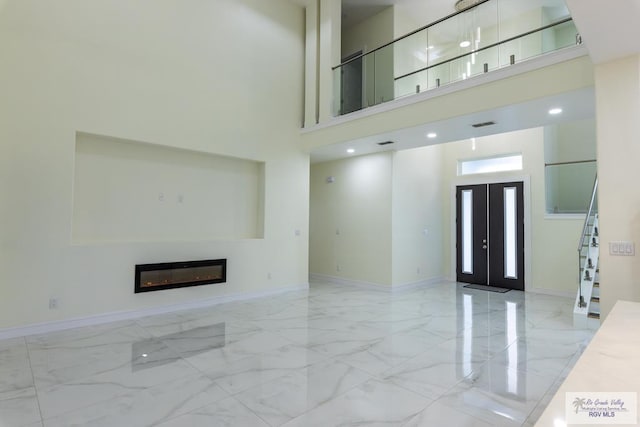
[[(7, 0), (0, 58), (0, 328), (306, 285), (299, 6)], [(264, 238), (73, 244), (78, 131), (264, 163)], [(136, 264), (203, 258), (226, 284), (133, 293)]]

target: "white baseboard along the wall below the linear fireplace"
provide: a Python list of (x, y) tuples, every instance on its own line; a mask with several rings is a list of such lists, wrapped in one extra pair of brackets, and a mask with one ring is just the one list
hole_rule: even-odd
[(57, 320), (53, 322), (37, 323), (34, 325), (18, 326), (15, 328), (0, 329), (0, 340), (9, 338), (25, 337), (36, 334), (46, 334), (50, 332), (62, 331), (65, 329), (80, 328), (83, 326), (100, 325), (103, 323), (117, 322), (120, 320), (138, 319), (156, 314), (172, 313), (174, 311), (190, 310), (195, 308), (210, 307), (233, 301), (246, 301), (268, 296), (280, 295), (293, 291), (304, 291), (309, 289), (309, 284), (298, 286), (288, 286), (285, 288), (270, 289), (267, 291), (240, 293), (230, 295), (220, 295), (198, 301), (189, 301), (180, 304), (165, 305), (160, 307), (144, 308), (141, 310), (119, 311), (114, 313), (103, 313), (95, 316), (79, 317), (74, 319)]

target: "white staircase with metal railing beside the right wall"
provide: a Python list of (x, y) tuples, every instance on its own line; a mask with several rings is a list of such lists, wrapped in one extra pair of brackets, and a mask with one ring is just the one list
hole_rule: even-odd
[(597, 190), (598, 178), (596, 177), (578, 245), (580, 280), (573, 311), (576, 322), (592, 328), (600, 326), (600, 269), (598, 268), (600, 236), (598, 212), (595, 206)]

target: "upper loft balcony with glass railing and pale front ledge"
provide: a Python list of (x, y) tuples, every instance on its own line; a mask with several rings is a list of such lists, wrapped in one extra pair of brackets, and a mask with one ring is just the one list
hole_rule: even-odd
[[(348, 3), (326, 0), (320, 4), (332, 1), (338, 8)], [(449, 3), (453, 10), (455, 1)], [(394, 139), (395, 132), (445, 121), (456, 129), (448, 140), (506, 132), (515, 130), (514, 126), (544, 124), (541, 120), (525, 123), (514, 119), (517, 106), (551, 102), (567, 93), (574, 95), (576, 105), (593, 97), (593, 66), (563, 0), (463, 3), (469, 7), (419, 28), (407, 24), (406, 8), (390, 6), (341, 31), (335, 23), (327, 24), (331, 13), (320, 8), (317, 67), (308, 62), (306, 71), (305, 149), (318, 159), (328, 159), (333, 155), (324, 156), (320, 151), (328, 153), (335, 148), (341, 152), (343, 144)], [(343, 10), (337, 13), (338, 22), (341, 14)], [(333, 32), (334, 37), (337, 34), (338, 41), (323, 31)], [(308, 27), (308, 49), (313, 46), (309, 43), (311, 33)], [(382, 42), (381, 34), (392, 41)], [(310, 84), (313, 81), (317, 84)], [(485, 121), (496, 116), (504, 119), (486, 130), (465, 132), (469, 126), (458, 126), (458, 122), (482, 122), (485, 116)], [(420, 144), (424, 142), (394, 147)]]

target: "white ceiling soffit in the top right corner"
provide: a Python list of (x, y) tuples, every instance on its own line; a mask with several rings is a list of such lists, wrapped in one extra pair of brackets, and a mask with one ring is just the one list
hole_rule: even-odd
[(640, 53), (640, 0), (566, 0), (595, 64)]

